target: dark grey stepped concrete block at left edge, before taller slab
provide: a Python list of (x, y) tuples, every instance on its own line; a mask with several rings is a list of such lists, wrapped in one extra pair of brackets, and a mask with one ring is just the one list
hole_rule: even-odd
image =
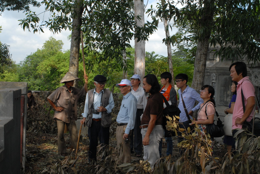
[(21, 172), (21, 89), (0, 89), (0, 173)]

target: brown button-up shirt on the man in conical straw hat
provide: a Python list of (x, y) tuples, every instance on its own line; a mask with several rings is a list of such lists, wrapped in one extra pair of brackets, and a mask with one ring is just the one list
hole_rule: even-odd
[(63, 107), (64, 110), (55, 111), (53, 119), (57, 118), (65, 123), (77, 120), (77, 102), (83, 95), (86, 95), (84, 87), (82, 89), (71, 87), (71, 92), (65, 84), (57, 88), (47, 99), (50, 99), (56, 106)]

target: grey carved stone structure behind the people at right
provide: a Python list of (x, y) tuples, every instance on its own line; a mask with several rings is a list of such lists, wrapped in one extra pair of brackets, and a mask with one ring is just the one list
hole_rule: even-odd
[[(213, 86), (215, 89), (214, 99), (216, 101), (216, 110), (218, 111), (220, 116), (225, 116), (224, 109), (228, 108), (229, 102), (231, 101), (232, 92), (231, 92), (231, 77), (229, 72), (229, 66), (232, 64), (231, 60), (223, 60), (221, 62), (221, 58), (216, 58), (214, 56), (214, 49), (217, 48), (209, 48), (207, 63), (206, 63), (206, 71), (204, 84), (208, 84)], [(247, 64), (247, 75), (249, 79), (252, 81), (255, 86), (255, 91), (260, 94), (260, 63), (252, 64), (252, 62), (247, 63), (247, 58), (244, 58), (243, 61)], [(252, 64), (252, 66), (251, 66)], [(259, 110), (259, 106), (255, 105), (256, 110)]]

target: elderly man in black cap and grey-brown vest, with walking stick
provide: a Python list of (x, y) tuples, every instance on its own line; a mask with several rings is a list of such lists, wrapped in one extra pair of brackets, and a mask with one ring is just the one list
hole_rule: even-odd
[(109, 127), (112, 123), (111, 112), (114, 108), (112, 92), (104, 89), (107, 78), (103, 75), (94, 77), (94, 89), (88, 91), (81, 123), (88, 126), (89, 151), (88, 160), (96, 161), (96, 147), (99, 142), (109, 145)]

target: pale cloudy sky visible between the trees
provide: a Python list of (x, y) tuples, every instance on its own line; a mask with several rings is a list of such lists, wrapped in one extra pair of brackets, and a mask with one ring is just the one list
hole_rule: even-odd
[[(147, 1), (144, 1), (146, 4)], [(148, 1), (147, 7), (153, 7), (156, 5), (156, 1)], [(43, 11), (43, 7), (37, 10), (38, 12)], [(61, 33), (53, 34), (47, 28), (44, 29), (44, 33), (33, 33), (28, 30), (21, 28), (18, 22), (19, 19), (25, 18), (25, 14), (22, 12), (4, 11), (0, 16), (0, 26), (2, 26), (2, 32), (0, 33), (0, 41), (10, 46), (9, 50), (12, 54), (12, 60), (16, 63), (23, 61), (27, 55), (34, 53), (37, 49), (41, 49), (43, 43), (48, 40), (49, 37), (53, 37), (56, 40), (62, 40), (64, 42), (63, 50), (70, 49), (70, 40), (67, 37), (70, 35), (69, 30), (64, 30)], [(45, 14), (45, 18), (46, 14)], [(147, 17), (145, 21), (149, 20)], [(176, 30), (170, 33), (172, 35)], [(162, 43), (162, 39), (165, 38), (164, 25), (159, 24), (158, 30), (152, 34), (149, 41), (146, 42), (145, 51), (155, 51), (156, 54), (167, 56), (167, 47)], [(134, 46), (134, 40), (130, 42), (131, 46)]]

